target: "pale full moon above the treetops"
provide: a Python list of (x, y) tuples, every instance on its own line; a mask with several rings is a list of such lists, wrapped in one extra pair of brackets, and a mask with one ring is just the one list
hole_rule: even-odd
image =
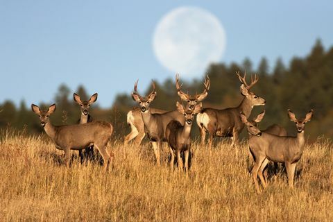
[(219, 62), (226, 37), (219, 19), (201, 8), (180, 7), (167, 13), (155, 28), (153, 50), (160, 63), (181, 76), (203, 75)]

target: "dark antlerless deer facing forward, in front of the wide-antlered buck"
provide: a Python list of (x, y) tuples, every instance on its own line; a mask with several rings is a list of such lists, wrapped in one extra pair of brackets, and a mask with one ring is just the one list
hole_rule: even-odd
[(202, 104), (198, 103), (192, 110), (186, 109), (179, 102), (176, 103), (176, 107), (180, 114), (185, 117), (185, 124), (182, 125), (179, 121), (173, 120), (167, 125), (166, 137), (169, 144), (171, 153), (170, 166), (173, 169), (175, 161), (175, 153), (177, 155), (178, 167), (182, 169), (182, 158), (180, 153), (185, 154), (185, 171), (189, 169), (189, 153), (191, 151), (191, 126), (194, 119), (194, 115), (200, 112)]

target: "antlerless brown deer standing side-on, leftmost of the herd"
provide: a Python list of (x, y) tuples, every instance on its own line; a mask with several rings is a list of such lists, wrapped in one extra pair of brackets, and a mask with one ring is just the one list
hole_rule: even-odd
[(68, 165), (70, 150), (80, 150), (94, 145), (99, 150), (104, 160), (104, 171), (107, 171), (113, 162), (114, 154), (106, 151), (106, 145), (112, 135), (111, 123), (105, 121), (94, 121), (79, 125), (53, 126), (49, 117), (56, 111), (56, 104), (50, 105), (48, 110), (31, 104), (31, 109), (40, 117), (40, 124), (44, 128), (56, 148), (65, 152), (65, 163)]

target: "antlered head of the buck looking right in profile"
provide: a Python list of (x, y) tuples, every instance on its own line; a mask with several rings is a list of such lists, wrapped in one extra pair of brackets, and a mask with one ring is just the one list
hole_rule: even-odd
[(254, 77), (251, 76), (251, 83), (250, 85), (248, 85), (248, 83), (246, 83), (246, 73), (244, 73), (244, 76), (241, 76), (239, 71), (237, 71), (236, 74), (239, 78), (239, 81), (241, 82), (241, 94), (252, 103), (252, 106), (265, 105), (266, 101), (264, 99), (255, 95), (253, 92), (250, 92), (250, 88), (258, 82), (259, 77), (257, 75), (255, 75)]

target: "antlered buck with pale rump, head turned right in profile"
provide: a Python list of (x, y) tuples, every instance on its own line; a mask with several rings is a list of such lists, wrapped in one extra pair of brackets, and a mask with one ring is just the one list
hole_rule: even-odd
[(265, 105), (266, 101), (257, 96), (250, 89), (257, 83), (259, 78), (257, 75), (251, 76), (251, 83), (246, 83), (246, 73), (241, 76), (236, 73), (240, 82), (240, 92), (244, 96), (241, 103), (235, 108), (226, 108), (224, 110), (214, 108), (204, 108), (196, 115), (196, 123), (200, 130), (201, 145), (205, 145), (206, 132), (209, 133), (208, 148), (212, 151), (212, 141), (214, 137), (231, 137), (232, 145), (239, 145), (239, 133), (244, 128), (244, 123), (241, 122), (239, 113), (243, 112), (246, 117), (250, 117), (251, 111), (255, 105)]

